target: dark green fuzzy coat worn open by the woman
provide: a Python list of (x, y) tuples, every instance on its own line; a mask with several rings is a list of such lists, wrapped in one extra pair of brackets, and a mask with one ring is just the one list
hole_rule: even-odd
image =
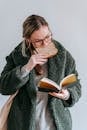
[[(58, 48), (58, 54), (48, 60), (48, 77), (57, 84), (68, 74), (76, 73), (75, 61), (70, 53), (57, 41), (53, 41)], [(35, 108), (36, 108), (36, 86), (34, 84), (35, 71), (32, 70), (25, 78), (20, 78), (21, 67), (25, 65), (30, 54), (25, 49), (27, 57), (22, 55), (21, 42), (6, 57), (6, 66), (0, 77), (0, 93), (4, 95), (13, 94), (19, 90), (15, 97), (9, 116), (8, 130), (35, 130)], [(81, 86), (76, 85), (68, 88), (70, 98), (67, 101), (48, 97), (48, 107), (54, 119), (57, 130), (71, 130), (72, 119), (68, 107), (73, 106), (81, 96)]]

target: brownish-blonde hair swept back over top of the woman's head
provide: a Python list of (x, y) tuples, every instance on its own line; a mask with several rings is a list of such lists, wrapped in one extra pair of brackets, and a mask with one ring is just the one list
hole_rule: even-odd
[(48, 26), (47, 21), (39, 15), (30, 15), (23, 23), (23, 37), (30, 38), (32, 33), (41, 26)]

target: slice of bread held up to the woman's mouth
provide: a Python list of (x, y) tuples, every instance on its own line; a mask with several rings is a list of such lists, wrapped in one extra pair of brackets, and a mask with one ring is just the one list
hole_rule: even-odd
[(45, 47), (36, 48), (38, 53), (44, 54), (45, 58), (53, 57), (58, 53), (58, 49), (55, 47), (54, 43), (50, 43)]

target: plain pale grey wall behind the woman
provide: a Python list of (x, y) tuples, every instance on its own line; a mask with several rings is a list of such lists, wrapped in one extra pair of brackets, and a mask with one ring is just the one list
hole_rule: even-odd
[[(76, 60), (82, 97), (69, 108), (73, 130), (87, 129), (87, 1), (86, 0), (0, 0), (0, 73), (5, 57), (22, 40), (22, 23), (31, 14), (48, 21), (53, 36)], [(0, 95), (0, 107), (7, 97)]]

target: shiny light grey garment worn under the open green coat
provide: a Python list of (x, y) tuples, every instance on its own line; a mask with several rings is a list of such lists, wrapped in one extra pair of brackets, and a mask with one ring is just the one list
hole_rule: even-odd
[[(44, 70), (43, 75), (36, 75), (35, 83), (36, 86), (41, 78), (48, 76), (47, 63), (42, 66)], [(38, 87), (38, 86), (37, 86)], [(48, 106), (48, 93), (37, 91), (36, 100), (36, 130), (55, 130), (52, 116), (49, 112)]]

